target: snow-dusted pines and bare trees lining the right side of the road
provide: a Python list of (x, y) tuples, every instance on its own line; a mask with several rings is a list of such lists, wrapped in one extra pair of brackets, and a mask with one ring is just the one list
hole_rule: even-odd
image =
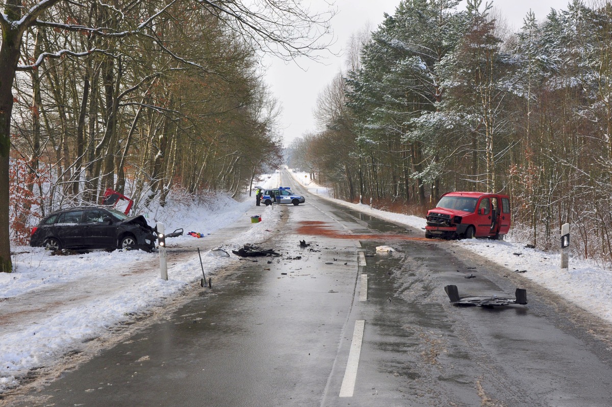
[(288, 164), (336, 197), (424, 215), (449, 191), (512, 200), (512, 238), (612, 260), (612, 4), (573, 1), (518, 32), (491, 4), (411, 0), (327, 85)]

